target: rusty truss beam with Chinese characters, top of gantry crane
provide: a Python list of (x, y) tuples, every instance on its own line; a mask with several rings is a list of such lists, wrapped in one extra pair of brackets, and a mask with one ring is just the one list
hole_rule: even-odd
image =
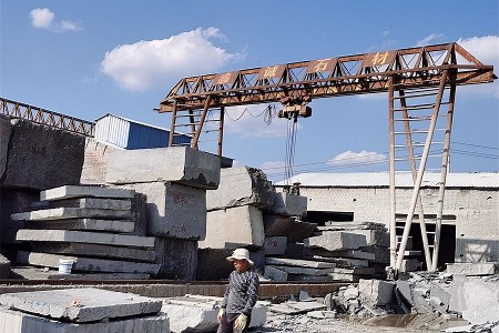
[(389, 78), (397, 89), (438, 87), (444, 71), (451, 73), (447, 85), (497, 79), (492, 65), (447, 43), (184, 78), (160, 102), (159, 112), (384, 92)]

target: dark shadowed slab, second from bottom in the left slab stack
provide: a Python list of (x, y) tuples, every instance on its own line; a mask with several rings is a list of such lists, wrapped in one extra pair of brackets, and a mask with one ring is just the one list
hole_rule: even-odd
[(69, 254), (73, 256), (88, 255), (96, 258), (132, 259), (134, 261), (145, 262), (153, 262), (156, 260), (155, 250), (106, 244), (32, 242), (31, 248), (34, 252)]

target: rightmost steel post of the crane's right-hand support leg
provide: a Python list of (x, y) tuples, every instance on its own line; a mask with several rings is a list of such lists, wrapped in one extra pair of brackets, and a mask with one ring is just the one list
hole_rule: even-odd
[(434, 258), (431, 269), (429, 270), (430, 272), (437, 271), (438, 253), (440, 250), (441, 216), (444, 213), (444, 195), (446, 191), (447, 169), (450, 158), (450, 132), (452, 128), (455, 100), (456, 100), (456, 84), (451, 84), (449, 105), (447, 109), (446, 139), (444, 141), (444, 154), (441, 158), (440, 188), (438, 190), (437, 221), (435, 226)]

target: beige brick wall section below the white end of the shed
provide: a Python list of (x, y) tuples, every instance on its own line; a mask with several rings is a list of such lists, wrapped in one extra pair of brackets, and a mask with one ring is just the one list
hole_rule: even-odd
[(124, 149), (86, 138), (80, 183), (104, 185), (109, 155), (116, 150)]

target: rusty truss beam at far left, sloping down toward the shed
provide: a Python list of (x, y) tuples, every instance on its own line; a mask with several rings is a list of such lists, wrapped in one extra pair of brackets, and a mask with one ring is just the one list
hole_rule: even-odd
[(24, 119), (34, 123), (61, 129), (83, 137), (93, 137), (95, 123), (38, 107), (0, 98), (0, 114)]

